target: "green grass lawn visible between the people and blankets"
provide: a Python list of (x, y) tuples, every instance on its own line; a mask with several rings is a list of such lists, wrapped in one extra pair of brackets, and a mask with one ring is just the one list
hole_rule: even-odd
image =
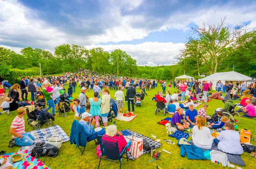
[[(65, 86), (67, 87), (67, 86)], [(135, 107), (134, 113), (137, 114), (137, 117), (131, 122), (124, 122), (124, 121), (116, 121), (117, 129), (131, 129), (136, 132), (139, 132), (145, 136), (150, 137), (151, 134), (157, 135), (157, 139), (160, 139), (160, 143), (163, 144), (160, 146), (160, 149), (166, 149), (167, 151), (171, 152), (172, 154), (167, 154), (162, 152), (160, 155), (160, 160), (155, 160), (154, 162), (150, 162), (150, 154), (145, 154), (142, 157), (138, 158), (135, 161), (123, 160), (122, 168), (123, 169), (155, 169), (156, 166), (160, 166), (163, 169), (221, 169), (224, 168), (218, 164), (212, 163), (209, 160), (188, 160), (186, 157), (182, 158), (180, 156), (180, 148), (177, 145), (170, 145), (163, 142), (163, 139), (172, 139), (173, 142), (177, 143), (175, 138), (168, 137), (166, 134), (166, 128), (162, 125), (157, 124), (158, 121), (165, 118), (162, 116), (162, 111), (157, 115), (154, 115), (154, 110), (156, 108), (156, 102), (151, 101), (150, 99), (157, 93), (157, 90), (160, 90), (160, 87), (153, 89), (151, 91), (146, 91), (148, 96), (145, 96), (145, 104), (142, 103), (141, 107)], [(137, 90), (139, 91), (139, 90)], [(172, 88), (171, 93), (176, 91)], [(78, 98), (80, 93), (80, 87), (76, 87), (76, 93), (73, 93), (73, 98)], [(86, 93), (89, 98), (93, 96), (93, 92), (90, 91)], [(111, 90), (111, 98), (115, 99), (113, 96), (115, 94), (114, 90)], [(29, 97), (30, 98), (30, 95)], [(238, 102), (238, 101), (237, 101)], [(207, 114), (212, 115), (214, 110), (217, 107), (223, 107), (224, 104), (221, 100), (212, 100), (208, 102), (208, 109)], [(201, 106), (197, 107), (196, 110), (201, 108)], [(125, 110), (127, 111), (127, 104), (125, 105)], [(11, 139), (11, 135), (9, 134), (9, 128), (12, 123), (13, 118), (15, 118), (16, 111), (11, 113), (11, 116), (7, 116), (6, 114), (0, 115), (0, 150), (4, 150), (7, 153), (9, 152), (17, 152), (20, 148), (18, 146), (14, 146), (12, 148), (8, 148), (9, 141)], [(167, 114), (166, 117), (171, 117), (172, 115)], [(25, 121), (27, 116), (24, 116)], [(70, 135), (70, 128), (71, 124), (74, 120), (74, 115), (72, 113), (68, 114), (67, 118), (55, 116), (54, 125), (57, 124), (63, 128), (63, 130)], [(109, 123), (109, 124), (113, 124)], [(42, 127), (47, 127), (44, 124)], [(238, 124), (239, 129), (246, 128), (251, 130), (252, 134), (256, 132), (256, 121), (247, 118), (241, 118), (241, 121)], [(31, 126), (26, 123), (26, 132), (33, 130)], [(190, 138), (189, 138), (190, 139)], [(255, 144), (254, 141), (251, 143)], [(90, 142), (87, 144), (85, 149), (84, 155), (80, 156), (79, 149), (76, 148), (76, 145), (70, 145), (69, 142), (63, 143), (61, 149), (59, 150), (59, 155), (56, 158), (44, 157), (40, 158), (47, 166), (51, 167), (52, 169), (95, 169), (98, 167), (99, 158), (95, 154), (96, 153), (96, 145), (94, 142)], [(255, 168), (256, 161), (254, 157), (251, 157), (249, 153), (244, 153), (241, 155), (245, 162), (245, 167), (247, 169)], [(118, 163), (113, 163), (109, 161), (102, 160), (101, 162), (101, 169), (117, 169), (119, 168)]]

